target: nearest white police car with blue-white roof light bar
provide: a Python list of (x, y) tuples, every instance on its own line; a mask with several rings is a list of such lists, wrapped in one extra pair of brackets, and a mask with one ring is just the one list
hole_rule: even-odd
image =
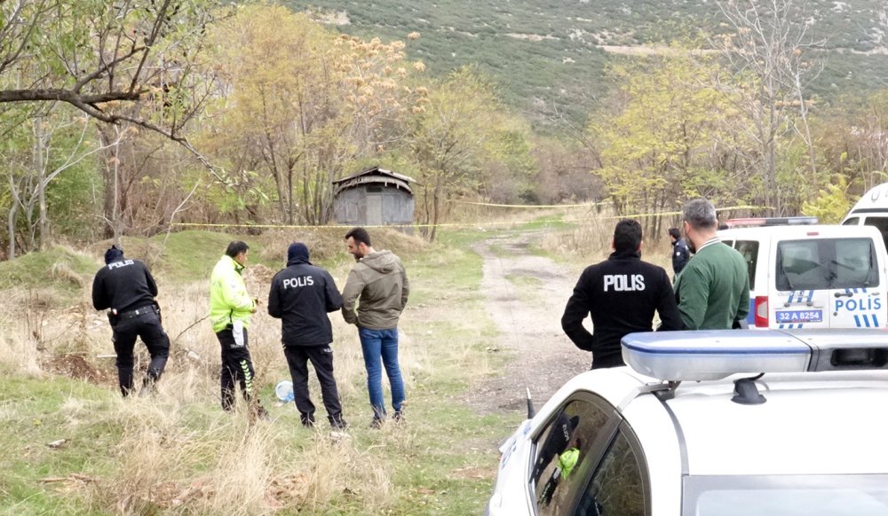
[(622, 345), (630, 367), (571, 379), (503, 444), (488, 514), (888, 514), (888, 332)]

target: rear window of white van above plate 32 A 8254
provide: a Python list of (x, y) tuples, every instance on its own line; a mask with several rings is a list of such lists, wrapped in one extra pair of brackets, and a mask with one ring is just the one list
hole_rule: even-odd
[(777, 289), (866, 288), (879, 284), (869, 238), (784, 240), (777, 245)]

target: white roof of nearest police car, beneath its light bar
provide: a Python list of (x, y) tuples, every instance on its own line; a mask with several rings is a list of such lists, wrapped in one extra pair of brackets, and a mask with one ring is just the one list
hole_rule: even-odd
[(686, 473), (888, 473), (879, 444), (888, 371), (765, 374), (758, 383), (762, 404), (731, 401), (730, 380), (680, 386), (665, 402)]

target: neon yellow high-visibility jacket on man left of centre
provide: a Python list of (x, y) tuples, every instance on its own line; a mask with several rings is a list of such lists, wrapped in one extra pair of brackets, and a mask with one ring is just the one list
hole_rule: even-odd
[(234, 262), (227, 254), (216, 263), (210, 276), (210, 323), (213, 332), (221, 332), (228, 324), (241, 321), (244, 328), (250, 327), (253, 315), (253, 300), (247, 294), (241, 272), (243, 266)]

